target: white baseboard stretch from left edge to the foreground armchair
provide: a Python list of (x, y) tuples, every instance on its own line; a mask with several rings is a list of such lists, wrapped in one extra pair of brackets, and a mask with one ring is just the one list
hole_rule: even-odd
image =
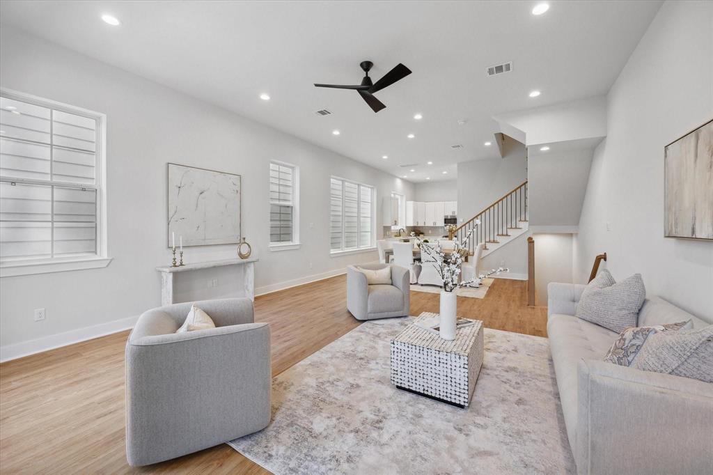
[(68, 344), (85, 342), (88, 339), (103, 337), (107, 334), (122, 332), (123, 330), (129, 330), (133, 328), (136, 320), (138, 320), (138, 315), (113, 320), (112, 322), (100, 323), (99, 325), (92, 325), (91, 327), (51, 334), (47, 337), (30, 339), (26, 342), (6, 344), (4, 347), (0, 347), (0, 362), (26, 357), (30, 354), (46, 352), (49, 349), (66, 347)]

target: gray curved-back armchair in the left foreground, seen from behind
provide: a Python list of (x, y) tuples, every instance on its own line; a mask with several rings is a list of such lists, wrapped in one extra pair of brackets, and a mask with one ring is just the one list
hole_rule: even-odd
[(195, 305), (216, 328), (175, 333), (191, 303), (141, 315), (126, 343), (126, 458), (140, 466), (270, 423), (270, 327), (247, 298)]

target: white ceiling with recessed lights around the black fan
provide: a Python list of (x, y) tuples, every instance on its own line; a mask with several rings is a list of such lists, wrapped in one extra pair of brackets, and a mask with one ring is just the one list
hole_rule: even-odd
[[(661, 1), (549, 1), (547, 13), (533, 16), (536, 3), (2, 1), (0, 18), (420, 182), (455, 178), (461, 161), (498, 157), (496, 145), (483, 146), (498, 131), (493, 114), (606, 93)], [(105, 13), (122, 25), (104, 24)], [(354, 91), (312, 86), (359, 83), (366, 59), (374, 81), (399, 62), (413, 71), (376, 93), (383, 111)], [(487, 66), (506, 61), (513, 72), (486, 76)], [(542, 95), (529, 98), (533, 89)], [(322, 108), (332, 115), (317, 116)], [(416, 172), (404, 163), (418, 164)]]

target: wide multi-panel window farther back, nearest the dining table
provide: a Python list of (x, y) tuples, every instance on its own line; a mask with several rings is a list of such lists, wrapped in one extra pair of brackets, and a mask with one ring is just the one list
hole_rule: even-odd
[(374, 247), (374, 188), (332, 177), (329, 190), (331, 252)]

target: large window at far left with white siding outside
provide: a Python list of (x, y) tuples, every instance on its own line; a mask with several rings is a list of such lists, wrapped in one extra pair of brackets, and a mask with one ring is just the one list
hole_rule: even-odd
[(92, 116), (71, 106), (0, 95), (4, 269), (103, 255), (98, 147), (102, 122), (101, 114)]

